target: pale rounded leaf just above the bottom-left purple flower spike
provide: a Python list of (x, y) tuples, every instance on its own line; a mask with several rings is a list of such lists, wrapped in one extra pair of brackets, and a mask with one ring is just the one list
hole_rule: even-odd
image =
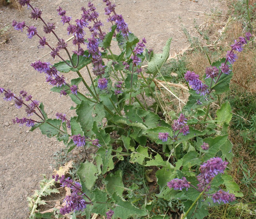
[(98, 179), (96, 176), (97, 173), (97, 167), (93, 164), (93, 162), (88, 161), (81, 163), (77, 171), (77, 175), (79, 176), (82, 186), (87, 187), (87, 189), (92, 189), (94, 186), (96, 179)]

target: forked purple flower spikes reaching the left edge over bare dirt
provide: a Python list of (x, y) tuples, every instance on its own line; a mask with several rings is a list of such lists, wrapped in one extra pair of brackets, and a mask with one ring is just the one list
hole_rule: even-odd
[[(19, 94), (20, 96), (16, 96), (14, 93), (12, 93), (9, 89), (6, 91), (4, 88), (0, 88), (0, 94), (4, 93), (4, 99), (6, 101), (11, 101), (14, 100), (15, 106), (17, 109), (20, 109), (23, 105), (26, 107), (25, 112), (27, 113), (28, 116), (32, 116), (33, 113), (35, 113), (40, 119), (44, 120), (44, 116), (41, 112), (41, 110), (39, 109), (39, 101), (38, 100), (32, 100), (32, 96), (31, 95), (27, 95), (26, 91), (20, 91)], [(31, 103), (25, 103), (25, 101), (31, 101)], [(39, 112), (41, 113), (41, 116), (39, 116), (39, 114), (36, 113), (36, 108), (39, 110)], [(22, 119), (19, 119), (18, 117), (16, 117), (15, 119), (12, 120), (13, 124), (26, 124), (27, 127), (33, 127), (35, 123), (41, 123), (39, 121), (33, 120), (33, 119), (28, 119), (26, 117), (23, 117)]]

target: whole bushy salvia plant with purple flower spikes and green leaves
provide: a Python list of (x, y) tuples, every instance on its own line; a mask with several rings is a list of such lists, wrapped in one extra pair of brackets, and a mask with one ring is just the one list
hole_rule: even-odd
[[(78, 18), (71, 18), (61, 6), (57, 8), (56, 15), (76, 47), (70, 51), (65, 36), (55, 33), (55, 24), (44, 19), (39, 8), (34, 8), (30, 0), (19, 0), (19, 3), (28, 6), (32, 19), (41, 21), (43, 33), (24, 21), (13, 20), (14, 29), (26, 32), (29, 39), (38, 37), (39, 48), (49, 47), (51, 57), (60, 60), (56, 64), (38, 60), (31, 66), (45, 75), (46, 82), (53, 86), (52, 91), (62, 98), (71, 98), (75, 105), (71, 110), (75, 110), (76, 116), (56, 112), (56, 118), (50, 119), (43, 103), (26, 91), (16, 95), (0, 88), (5, 100), (13, 100), (18, 109), (25, 108), (26, 117), (15, 118), (13, 123), (32, 127), (31, 131), (39, 128), (48, 137), (56, 136), (66, 145), (67, 153), (75, 147), (96, 148), (90, 161), (80, 163), (75, 176), (79, 180), (63, 174), (55, 174), (49, 180), (51, 186), (54, 181), (70, 190), (62, 200), (62, 207), (50, 214), (58, 218), (70, 214), (90, 218), (93, 213), (109, 219), (146, 215), (151, 218), (157, 212), (166, 214), (161, 208), (168, 206), (173, 211), (178, 207), (187, 218), (203, 219), (208, 214), (207, 207), (230, 203), (243, 196), (225, 170), (233, 158), (233, 145), (227, 134), (231, 107), (225, 102), (216, 112), (209, 114), (209, 110), (210, 103), (229, 90), (232, 64), (238, 58), (236, 53), (246, 46), (250, 33), (235, 40), (226, 57), (215, 62), (209, 60), (204, 79), (199, 79), (193, 71), (183, 75), (182, 82), (188, 85), (190, 96), (178, 115), (171, 113), (169, 123), (159, 116), (159, 111), (163, 115), (168, 112), (156, 97), (159, 91), (153, 79), (160, 78), (161, 67), (169, 57), (171, 38), (161, 54), (154, 54), (146, 48), (145, 38), (138, 39), (130, 32), (123, 16), (116, 12), (116, 5), (103, 0), (106, 5), (103, 13), (110, 26), (106, 33), (99, 12), (89, 1), (86, 7), (81, 7)], [(47, 34), (56, 37), (55, 45), (47, 41)], [(118, 54), (111, 50), (112, 40), (117, 41)], [(61, 50), (65, 55), (60, 55)], [(147, 62), (145, 70), (143, 62)], [(91, 85), (82, 77), (81, 69), (86, 69)], [(69, 80), (68, 72), (78, 77)], [(87, 92), (80, 92), (80, 86), (85, 86)], [(130, 173), (130, 169), (125, 169), (128, 164), (134, 165), (134, 169), (143, 166), (146, 172), (140, 175), (141, 181), (124, 181)], [(158, 169), (153, 191), (148, 191), (147, 182), (151, 179), (147, 174), (151, 169), (147, 168), (150, 167)], [(164, 204), (149, 203), (151, 197)], [(30, 218), (46, 217), (38, 208), (45, 202), (29, 198), (29, 203)], [(157, 211), (153, 210), (156, 206)]]

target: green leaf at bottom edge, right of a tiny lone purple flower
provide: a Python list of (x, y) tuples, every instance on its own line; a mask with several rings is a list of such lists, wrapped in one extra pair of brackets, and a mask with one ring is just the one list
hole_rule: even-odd
[(147, 215), (147, 211), (135, 207), (130, 201), (125, 201), (122, 197), (118, 196), (116, 193), (112, 195), (112, 198), (115, 200), (115, 214), (114, 218), (134, 218), (142, 217)]

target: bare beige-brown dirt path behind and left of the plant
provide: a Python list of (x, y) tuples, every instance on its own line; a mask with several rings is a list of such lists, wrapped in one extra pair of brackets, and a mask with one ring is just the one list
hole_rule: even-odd
[[(43, 18), (50, 22), (56, 22), (56, 32), (64, 39), (68, 39), (65, 27), (57, 17), (58, 6), (67, 10), (67, 15), (73, 20), (79, 18), (81, 6), (87, 6), (88, 1), (77, 0), (40, 0), (34, 1), (33, 6), (43, 10)], [(92, 1), (101, 14), (101, 19), (105, 21), (103, 15), (104, 3), (100, 0)], [(192, 36), (198, 36), (194, 29), (194, 19), (197, 23), (203, 23), (202, 11), (211, 13), (211, 10), (222, 8), (222, 3), (210, 0), (116, 0), (116, 12), (122, 14), (129, 25), (129, 29), (140, 39), (146, 37), (147, 48), (154, 48), (155, 52), (160, 52), (169, 37), (173, 37), (171, 44), (171, 54), (179, 52), (189, 46), (182, 26), (191, 32)], [(42, 33), (42, 26), (39, 21), (29, 18), (30, 9), (0, 8), (0, 28), (11, 25), (12, 20), (25, 21), (29, 25), (35, 25)], [(41, 23), (40, 23), (41, 24)], [(108, 24), (106, 24), (108, 29)], [(11, 30), (13, 32), (13, 30)], [(48, 117), (55, 118), (56, 112), (62, 112), (69, 117), (72, 102), (65, 97), (60, 98), (57, 93), (50, 92), (51, 86), (44, 81), (44, 75), (37, 73), (30, 67), (30, 63), (48, 53), (49, 50), (38, 49), (38, 38), (31, 40), (26, 37), (26, 31), (20, 33), (14, 31), (9, 35), (11, 42), (0, 47), (0, 87), (11, 89), (18, 93), (26, 90), (33, 95), (34, 99), (43, 102)], [(43, 35), (44, 36), (44, 35)], [(47, 41), (56, 43), (53, 36), (47, 35)], [(89, 37), (89, 36), (88, 36)], [(53, 63), (50, 55), (42, 59)], [(56, 60), (59, 61), (59, 60)], [(86, 72), (82, 71), (88, 80)], [(75, 75), (65, 74), (67, 79)], [(40, 174), (50, 175), (51, 164), (54, 162), (54, 152), (64, 147), (55, 138), (47, 138), (40, 133), (40, 130), (29, 132), (26, 126), (19, 127), (12, 124), (12, 119), (16, 116), (23, 117), (23, 109), (16, 109), (11, 102), (6, 102), (0, 98), (0, 218), (27, 218), (26, 197), (32, 194), (32, 189), (38, 189)]]

